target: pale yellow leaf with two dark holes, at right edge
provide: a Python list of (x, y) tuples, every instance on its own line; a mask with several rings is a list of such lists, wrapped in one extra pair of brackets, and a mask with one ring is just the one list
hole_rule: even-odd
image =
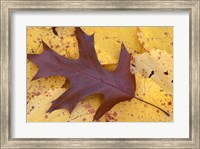
[(131, 72), (140, 73), (145, 78), (152, 78), (167, 93), (173, 92), (173, 57), (166, 51), (151, 50), (133, 56)]

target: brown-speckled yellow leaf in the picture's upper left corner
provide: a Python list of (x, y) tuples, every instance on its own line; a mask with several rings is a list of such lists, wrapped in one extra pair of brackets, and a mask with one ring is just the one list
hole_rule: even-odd
[(70, 59), (77, 59), (79, 52), (74, 31), (74, 27), (29, 27), (27, 29), (27, 53), (41, 54), (43, 51), (42, 41), (44, 41), (60, 55)]

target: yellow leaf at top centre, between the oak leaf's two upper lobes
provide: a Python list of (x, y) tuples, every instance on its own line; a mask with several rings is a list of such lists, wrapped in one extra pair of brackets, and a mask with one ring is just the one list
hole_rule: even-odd
[(117, 64), (121, 44), (129, 53), (141, 53), (137, 27), (82, 27), (88, 35), (94, 34), (95, 50), (101, 64)]

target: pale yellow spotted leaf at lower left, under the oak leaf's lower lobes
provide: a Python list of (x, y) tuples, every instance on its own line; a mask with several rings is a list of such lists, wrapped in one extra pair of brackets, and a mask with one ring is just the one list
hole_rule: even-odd
[[(52, 101), (62, 95), (66, 89), (50, 89), (45, 94), (34, 96), (27, 105), (27, 121), (28, 122), (74, 122), (74, 121), (93, 121), (95, 109), (89, 104), (88, 101), (94, 101), (95, 105), (99, 106), (99, 97), (97, 95), (88, 96), (84, 101), (81, 101), (74, 108), (70, 114), (66, 109), (58, 109), (51, 113), (47, 113), (47, 110), (51, 107)], [(91, 102), (92, 103), (92, 102)]]

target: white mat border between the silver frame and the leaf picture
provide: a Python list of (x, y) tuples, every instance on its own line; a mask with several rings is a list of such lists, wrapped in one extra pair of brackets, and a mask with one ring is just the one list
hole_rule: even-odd
[[(13, 138), (188, 138), (188, 12), (15, 12), (12, 14)], [(26, 123), (26, 26), (174, 26), (174, 122)]]

